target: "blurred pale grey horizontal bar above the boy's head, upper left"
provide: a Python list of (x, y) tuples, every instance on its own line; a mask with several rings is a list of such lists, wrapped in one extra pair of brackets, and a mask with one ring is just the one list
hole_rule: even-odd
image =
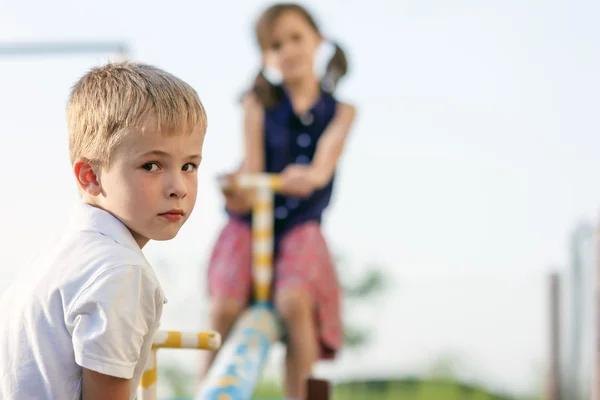
[(48, 55), (82, 55), (114, 53), (124, 60), (129, 48), (123, 42), (22, 42), (0, 43), (0, 57), (27, 57)]

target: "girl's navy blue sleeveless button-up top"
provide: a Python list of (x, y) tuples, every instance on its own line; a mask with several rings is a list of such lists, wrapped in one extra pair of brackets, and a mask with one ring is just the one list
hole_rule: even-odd
[[(290, 164), (310, 164), (317, 149), (319, 138), (333, 120), (337, 100), (321, 90), (313, 107), (303, 115), (294, 112), (292, 102), (282, 90), (282, 101), (272, 110), (265, 110), (264, 150), (265, 172), (280, 173)], [(321, 217), (331, 199), (334, 177), (308, 198), (275, 195), (274, 234), (275, 242), (285, 232), (308, 222), (321, 222)], [(251, 222), (251, 214), (232, 215)]]

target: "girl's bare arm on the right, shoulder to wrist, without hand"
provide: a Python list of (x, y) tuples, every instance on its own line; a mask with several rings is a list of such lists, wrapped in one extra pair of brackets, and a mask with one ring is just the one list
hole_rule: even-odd
[(355, 116), (356, 110), (353, 106), (338, 104), (333, 120), (317, 143), (317, 150), (310, 165), (311, 180), (315, 189), (322, 188), (331, 180)]

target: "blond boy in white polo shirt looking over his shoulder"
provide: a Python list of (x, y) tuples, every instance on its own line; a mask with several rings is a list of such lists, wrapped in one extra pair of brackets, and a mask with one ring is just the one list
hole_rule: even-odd
[(133, 399), (166, 302), (142, 248), (196, 201), (206, 113), (130, 62), (87, 73), (67, 107), (82, 202), (58, 244), (0, 300), (0, 399)]

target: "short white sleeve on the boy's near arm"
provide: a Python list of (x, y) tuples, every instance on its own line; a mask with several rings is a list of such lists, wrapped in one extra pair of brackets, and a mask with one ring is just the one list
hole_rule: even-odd
[(156, 329), (163, 298), (156, 278), (141, 266), (102, 272), (67, 315), (75, 361), (83, 368), (131, 379), (144, 338)]

